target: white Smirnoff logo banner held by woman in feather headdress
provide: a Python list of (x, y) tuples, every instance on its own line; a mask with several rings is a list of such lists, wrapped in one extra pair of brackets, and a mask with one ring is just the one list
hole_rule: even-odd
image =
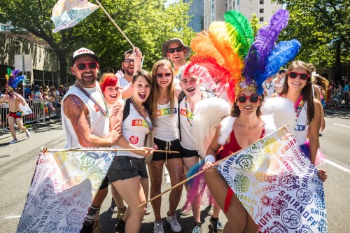
[(216, 168), (263, 233), (328, 232), (323, 183), (285, 127)]

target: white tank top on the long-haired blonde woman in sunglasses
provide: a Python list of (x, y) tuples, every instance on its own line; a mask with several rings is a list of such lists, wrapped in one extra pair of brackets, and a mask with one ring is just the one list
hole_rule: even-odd
[(170, 101), (167, 104), (157, 104), (157, 112), (155, 113), (156, 139), (162, 141), (174, 141), (179, 139), (177, 108), (178, 104), (176, 100), (174, 109), (170, 108)]

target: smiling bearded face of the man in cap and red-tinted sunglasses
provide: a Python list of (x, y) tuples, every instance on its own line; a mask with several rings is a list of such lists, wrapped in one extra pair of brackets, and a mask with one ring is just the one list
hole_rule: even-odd
[[(90, 56), (81, 56), (76, 59), (74, 64), (96, 62), (94, 58)], [(71, 67), (71, 73), (76, 76), (76, 81), (81, 87), (92, 88), (96, 86), (97, 73), (99, 73), (99, 66), (95, 69), (91, 69), (89, 66), (85, 66), (85, 69), (80, 71), (77, 66)]]

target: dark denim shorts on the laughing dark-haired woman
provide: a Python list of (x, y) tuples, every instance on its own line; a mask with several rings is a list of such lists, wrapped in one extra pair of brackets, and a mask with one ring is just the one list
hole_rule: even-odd
[(145, 159), (130, 156), (116, 156), (107, 173), (109, 182), (123, 181), (139, 176), (148, 178)]

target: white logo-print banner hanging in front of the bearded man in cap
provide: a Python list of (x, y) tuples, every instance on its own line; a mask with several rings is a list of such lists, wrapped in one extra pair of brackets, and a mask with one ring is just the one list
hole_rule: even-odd
[(39, 155), (17, 232), (80, 232), (114, 155), (103, 151)]

